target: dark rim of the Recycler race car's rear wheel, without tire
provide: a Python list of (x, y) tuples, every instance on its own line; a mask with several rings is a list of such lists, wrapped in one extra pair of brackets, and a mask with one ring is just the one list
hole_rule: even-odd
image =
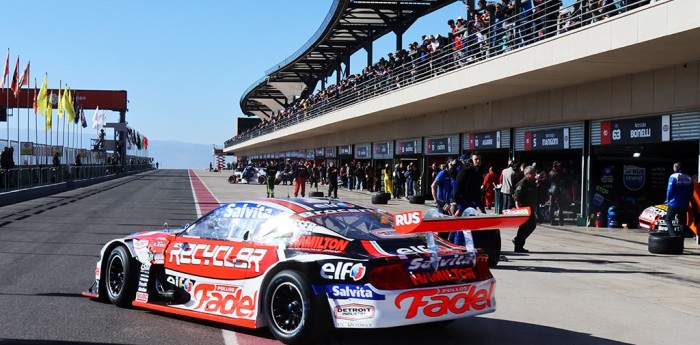
[(285, 334), (296, 332), (304, 320), (305, 310), (301, 292), (289, 282), (275, 288), (270, 309), (275, 326)]

